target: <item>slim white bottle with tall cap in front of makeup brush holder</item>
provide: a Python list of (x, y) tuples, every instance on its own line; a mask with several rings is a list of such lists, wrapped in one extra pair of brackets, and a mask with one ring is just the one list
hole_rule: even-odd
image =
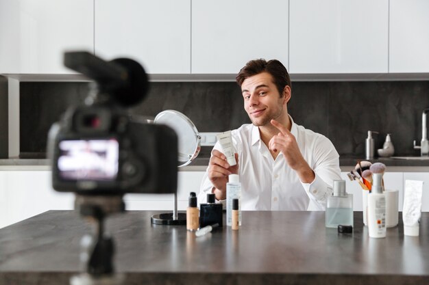
[(386, 236), (386, 195), (382, 191), (382, 174), (372, 174), (371, 193), (368, 194), (368, 232), (369, 237)]

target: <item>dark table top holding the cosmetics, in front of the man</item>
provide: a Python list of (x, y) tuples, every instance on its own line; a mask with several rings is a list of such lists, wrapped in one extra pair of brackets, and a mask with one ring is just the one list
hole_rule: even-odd
[[(400, 225), (370, 239), (362, 213), (353, 234), (325, 228), (324, 212), (243, 212), (243, 226), (195, 237), (151, 225), (148, 211), (108, 218), (125, 284), (428, 284), (429, 213), (419, 237)], [(0, 230), (0, 284), (68, 284), (82, 270), (79, 242), (92, 226), (48, 211)]]

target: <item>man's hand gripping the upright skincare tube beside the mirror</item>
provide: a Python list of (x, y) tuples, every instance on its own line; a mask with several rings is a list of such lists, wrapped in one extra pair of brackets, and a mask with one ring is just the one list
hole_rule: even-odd
[(228, 182), (228, 175), (238, 174), (238, 154), (235, 154), (235, 161), (237, 164), (230, 166), (226, 160), (225, 154), (219, 150), (212, 151), (212, 157), (208, 163), (208, 178), (212, 182), (217, 200), (226, 199), (226, 183)]

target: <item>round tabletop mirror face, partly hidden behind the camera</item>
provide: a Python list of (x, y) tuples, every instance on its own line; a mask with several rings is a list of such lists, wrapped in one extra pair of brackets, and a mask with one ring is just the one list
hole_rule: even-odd
[(165, 110), (155, 117), (155, 124), (165, 124), (177, 133), (178, 146), (178, 167), (191, 163), (199, 154), (201, 149), (201, 137), (195, 124), (184, 114), (175, 110)]

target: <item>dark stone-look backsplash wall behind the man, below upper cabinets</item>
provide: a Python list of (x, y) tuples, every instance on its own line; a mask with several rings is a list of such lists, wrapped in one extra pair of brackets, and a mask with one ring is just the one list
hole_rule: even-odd
[[(88, 83), (22, 82), (21, 157), (40, 157), (49, 126), (70, 105), (82, 103)], [(391, 133), (395, 155), (419, 154), (421, 112), (429, 107), (429, 81), (293, 82), (288, 109), (293, 120), (326, 135), (341, 155), (365, 154), (367, 131), (379, 131), (376, 148)], [(219, 132), (249, 123), (234, 82), (151, 83), (146, 100), (130, 113), (155, 117), (175, 109), (199, 132)], [(39, 154), (39, 155), (38, 155)]]

